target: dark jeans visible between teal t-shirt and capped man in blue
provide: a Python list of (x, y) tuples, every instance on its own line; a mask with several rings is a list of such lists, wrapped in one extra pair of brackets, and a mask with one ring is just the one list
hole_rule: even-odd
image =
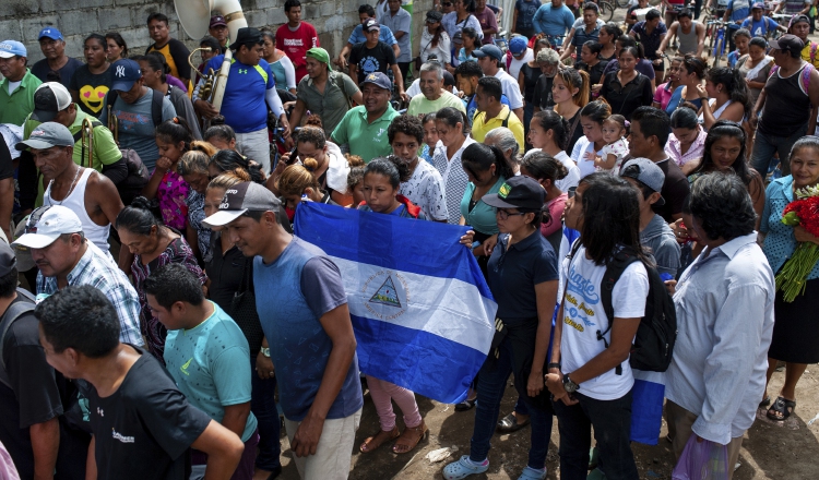
[(256, 457), (256, 467), (261, 470), (272, 471), (282, 466), (278, 456), (282, 445), (278, 442), (281, 422), (276, 410), (276, 377), (262, 380), (256, 373), (256, 359), (251, 360), (253, 367), (251, 373), (250, 411), (259, 422), (259, 455)]

